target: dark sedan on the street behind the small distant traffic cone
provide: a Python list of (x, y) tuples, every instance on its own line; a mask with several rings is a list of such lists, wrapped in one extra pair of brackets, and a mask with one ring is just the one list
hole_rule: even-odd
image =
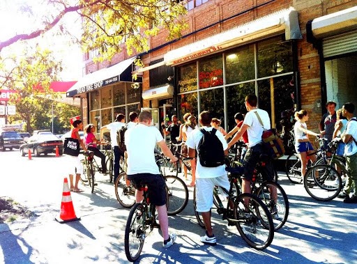
[(59, 155), (63, 155), (63, 141), (54, 134), (34, 134), (20, 146), (22, 157), (29, 153), (39, 157), (41, 154), (56, 153), (56, 146), (59, 147)]

